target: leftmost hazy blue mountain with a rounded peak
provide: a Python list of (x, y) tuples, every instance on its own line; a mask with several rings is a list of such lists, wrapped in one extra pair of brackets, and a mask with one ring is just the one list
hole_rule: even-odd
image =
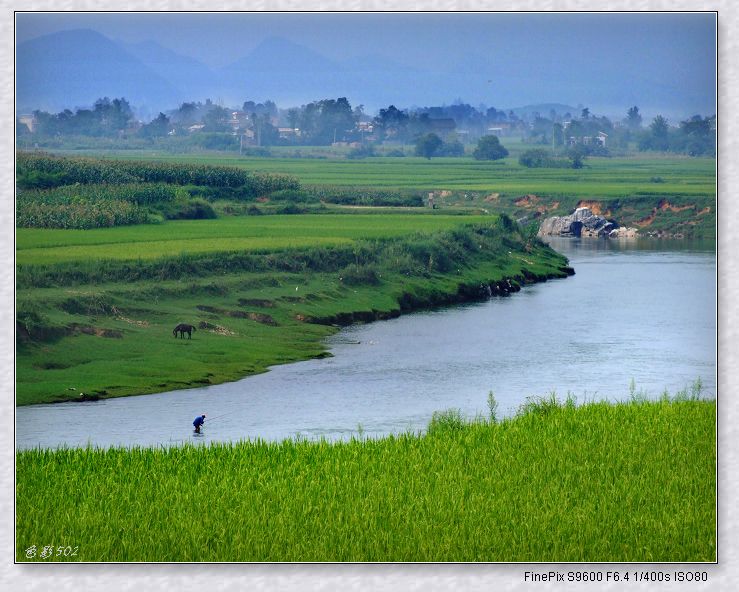
[(157, 109), (174, 104), (179, 95), (157, 72), (95, 31), (60, 31), (16, 48), (19, 111), (87, 107), (103, 96)]

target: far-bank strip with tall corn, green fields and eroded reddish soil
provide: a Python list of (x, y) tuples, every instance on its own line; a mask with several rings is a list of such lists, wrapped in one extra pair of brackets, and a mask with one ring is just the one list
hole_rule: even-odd
[[(109, 153), (105, 159), (20, 153), (16, 224), (96, 228), (169, 219), (431, 205), (536, 223), (587, 206), (641, 235), (713, 238), (715, 160), (588, 157), (573, 169), (516, 142), (495, 162), (473, 158), (239, 157)], [(528, 146), (528, 148), (527, 148)], [(535, 153), (536, 158), (529, 156)], [(569, 160), (568, 160), (569, 162)], [(298, 180), (299, 179), (299, 180)]]

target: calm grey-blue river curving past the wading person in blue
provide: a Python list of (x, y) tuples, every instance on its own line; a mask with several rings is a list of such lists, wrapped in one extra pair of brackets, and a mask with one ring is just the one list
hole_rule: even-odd
[[(552, 239), (576, 275), (509, 297), (346, 328), (334, 357), (190, 390), (16, 409), (16, 446), (170, 445), (424, 429), (433, 412), (499, 415), (531, 395), (716, 389), (711, 243)], [(203, 434), (192, 421), (205, 413)], [(361, 426), (361, 427), (360, 427)]]

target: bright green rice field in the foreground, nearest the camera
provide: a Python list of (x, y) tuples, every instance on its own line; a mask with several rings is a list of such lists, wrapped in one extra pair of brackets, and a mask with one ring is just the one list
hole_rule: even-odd
[(334, 444), (20, 451), (16, 559), (713, 561), (716, 405), (677, 399)]

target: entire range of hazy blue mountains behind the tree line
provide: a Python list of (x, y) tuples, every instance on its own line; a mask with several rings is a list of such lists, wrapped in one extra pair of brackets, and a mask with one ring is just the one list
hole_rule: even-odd
[[(597, 87), (595, 92), (593, 87)], [(61, 31), (16, 47), (19, 113), (87, 107), (103, 96), (125, 97), (144, 119), (184, 101), (206, 98), (233, 107), (245, 100), (271, 99), (285, 108), (347, 97), (352, 105), (365, 105), (368, 113), (390, 104), (423, 107), (461, 99), (506, 111), (513, 105), (540, 103), (514, 111), (539, 111), (543, 116), (549, 115), (549, 105), (556, 105), (560, 114), (579, 113), (579, 107), (544, 105), (552, 100), (571, 101), (554, 96), (558, 88), (567, 88), (570, 96), (578, 97), (574, 102), (597, 97), (600, 105), (596, 101), (587, 105), (594, 114), (603, 113), (609, 105), (616, 105), (613, 112), (623, 115), (629, 106), (641, 106), (638, 89), (624, 88), (615, 81), (609, 84), (607, 78), (597, 85), (583, 82), (515, 52), (505, 59), (470, 54), (451, 69), (434, 64), (412, 69), (381, 56), (337, 61), (271, 37), (231, 64), (213, 69), (155, 41), (123, 43), (89, 29)], [(665, 108), (675, 107), (674, 93), (665, 93), (662, 99)]]

